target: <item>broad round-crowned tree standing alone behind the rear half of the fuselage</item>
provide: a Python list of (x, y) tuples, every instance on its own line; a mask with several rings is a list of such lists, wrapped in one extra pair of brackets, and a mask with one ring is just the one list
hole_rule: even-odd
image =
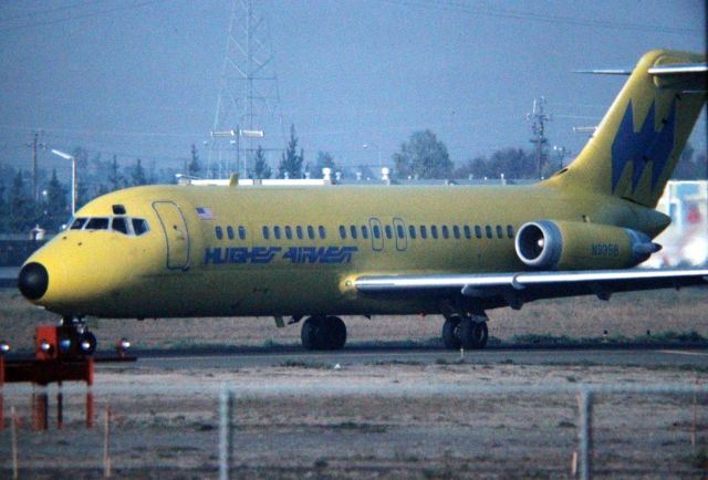
[(398, 178), (449, 178), (454, 167), (447, 147), (430, 131), (414, 132), (394, 161)]

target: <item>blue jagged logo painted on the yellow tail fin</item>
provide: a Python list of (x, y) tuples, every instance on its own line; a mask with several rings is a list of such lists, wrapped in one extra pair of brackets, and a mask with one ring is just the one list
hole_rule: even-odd
[(622, 173), (632, 161), (632, 191), (637, 189), (642, 174), (652, 161), (652, 191), (656, 189), (659, 177), (666, 167), (668, 157), (674, 149), (676, 134), (676, 101), (671, 102), (668, 118), (659, 132), (654, 129), (655, 102), (652, 102), (649, 113), (642, 124), (639, 132), (634, 132), (634, 111), (632, 101), (627, 106), (620, 129), (612, 144), (612, 191), (614, 192), (622, 177)]

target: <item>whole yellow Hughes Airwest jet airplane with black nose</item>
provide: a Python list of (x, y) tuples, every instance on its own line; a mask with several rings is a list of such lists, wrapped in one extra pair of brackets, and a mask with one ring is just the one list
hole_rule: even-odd
[(336, 315), (442, 314), (481, 348), (486, 312), (538, 299), (684, 286), (708, 270), (631, 269), (670, 222), (654, 208), (706, 103), (706, 56), (656, 50), (580, 156), (504, 187), (146, 186), (100, 197), (19, 274), (86, 353), (84, 317), (308, 316), (302, 345), (346, 342)]

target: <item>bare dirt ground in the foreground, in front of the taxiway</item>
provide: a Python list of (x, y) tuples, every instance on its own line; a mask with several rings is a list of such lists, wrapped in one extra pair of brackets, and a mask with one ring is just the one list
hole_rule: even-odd
[[(126, 373), (128, 375), (126, 375)], [(262, 367), (215, 372), (148, 367), (102, 369), (95, 427), (85, 428), (83, 394), (64, 397), (64, 426), (33, 431), (27, 393), (15, 406), (21, 478), (101, 478), (110, 407), (114, 478), (217, 478), (219, 386), (237, 393), (232, 478), (569, 478), (577, 450), (572, 393), (524, 394), (538, 385), (705, 383), (708, 373), (585, 365), (376, 364)], [(150, 394), (152, 385), (188, 393)], [(351, 386), (361, 386), (352, 394)], [(516, 386), (518, 394), (447, 395), (470, 385)], [(125, 386), (132, 394), (101, 394)], [(269, 386), (268, 393), (259, 386)], [(429, 394), (398, 395), (425, 386)], [(296, 393), (298, 389), (304, 393)], [(343, 394), (343, 389), (350, 393)], [(241, 392), (239, 394), (239, 392)], [(246, 392), (246, 393), (244, 393)], [(595, 478), (705, 478), (708, 399), (597, 395), (593, 411)], [(695, 401), (695, 403), (694, 403)], [(691, 446), (691, 431), (697, 446)], [(0, 478), (11, 470), (10, 432), (0, 431)]]

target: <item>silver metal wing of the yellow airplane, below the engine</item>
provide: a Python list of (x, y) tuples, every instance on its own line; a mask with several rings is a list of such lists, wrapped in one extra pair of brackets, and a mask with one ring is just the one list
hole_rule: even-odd
[(355, 288), (362, 293), (459, 293), (483, 301), (487, 307), (509, 305), (513, 309), (541, 299), (594, 294), (608, 300), (616, 292), (679, 289), (706, 283), (708, 269), (363, 275), (354, 281)]

